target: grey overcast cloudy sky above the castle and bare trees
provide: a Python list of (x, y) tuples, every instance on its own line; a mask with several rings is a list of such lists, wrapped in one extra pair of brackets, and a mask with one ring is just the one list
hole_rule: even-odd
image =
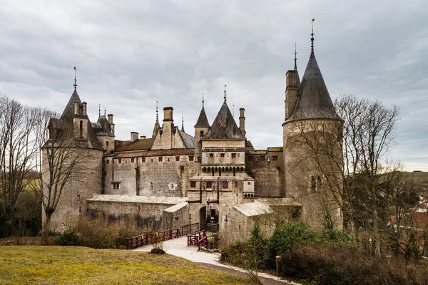
[(397, 104), (389, 152), (428, 171), (428, 1), (1, 0), (0, 93), (62, 112), (73, 92), (92, 121), (113, 113), (116, 139), (151, 135), (156, 101), (193, 134), (205, 93), (210, 123), (223, 103), (245, 108), (256, 148), (282, 145), (285, 73), (315, 55), (332, 98)]

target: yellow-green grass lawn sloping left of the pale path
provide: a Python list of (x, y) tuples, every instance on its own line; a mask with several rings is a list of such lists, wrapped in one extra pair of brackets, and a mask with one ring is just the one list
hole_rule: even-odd
[(0, 247), (0, 284), (252, 284), (168, 254), (87, 247)]

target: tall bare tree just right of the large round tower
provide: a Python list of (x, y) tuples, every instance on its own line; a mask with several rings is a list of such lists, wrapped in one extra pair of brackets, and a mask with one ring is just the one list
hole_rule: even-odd
[(345, 157), (344, 200), (347, 220), (352, 229), (355, 222), (372, 231), (375, 254), (379, 252), (379, 215), (382, 205), (382, 173), (386, 171), (387, 151), (394, 142), (394, 130), (399, 119), (399, 108), (387, 108), (379, 101), (357, 99), (345, 95), (335, 100), (335, 107), (344, 121), (343, 151)]

